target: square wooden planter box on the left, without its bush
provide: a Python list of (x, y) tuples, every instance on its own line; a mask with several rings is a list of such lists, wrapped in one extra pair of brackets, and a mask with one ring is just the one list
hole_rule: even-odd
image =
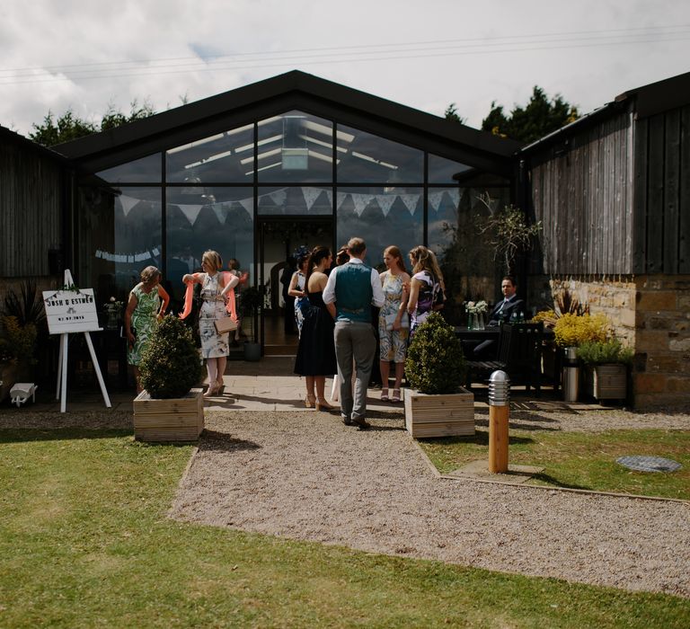
[(146, 391), (134, 398), (134, 438), (140, 441), (196, 441), (204, 430), (203, 389), (184, 397), (155, 400)]

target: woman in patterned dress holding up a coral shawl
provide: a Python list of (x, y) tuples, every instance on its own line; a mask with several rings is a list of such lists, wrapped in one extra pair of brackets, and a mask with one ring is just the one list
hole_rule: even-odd
[(208, 372), (208, 390), (204, 397), (211, 397), (221, 392), (223, 374), (226, 373), (227, 355), (230, 351), (229, 332), (219, 334), (215, 322), (227, 316), (226, 294), (234, 288), (240, 279), (235, 275), (220, 272), (223, 261), (215, 251), (204, 252), (201, 258), (202, 273), (190, 273), (182, 276), (185, 283), (201, 285), (201, 309), (199, 311), (199, 336), (201, 337), (201, 356), (206, 359)]

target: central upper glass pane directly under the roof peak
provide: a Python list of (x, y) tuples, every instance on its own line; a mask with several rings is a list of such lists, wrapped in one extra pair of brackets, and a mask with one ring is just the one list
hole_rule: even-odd
[[(332, 182), (333, 127), (302, 111), (259, 122), (258, 178), (264, 182)], [(253, 164), (248, 170), (253, 171)]]

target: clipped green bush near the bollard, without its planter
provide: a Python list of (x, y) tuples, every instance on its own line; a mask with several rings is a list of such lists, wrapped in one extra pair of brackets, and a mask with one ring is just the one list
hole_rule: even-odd
[(424, 394), (453, 394), (464, 382), (463, 348), (452, 325), (438, 313), (414, 332), (405, 361), (405, 376)]

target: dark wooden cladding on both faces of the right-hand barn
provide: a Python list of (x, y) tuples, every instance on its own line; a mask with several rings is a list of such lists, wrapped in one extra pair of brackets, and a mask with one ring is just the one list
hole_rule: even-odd
[(529, 159), (539, 272), (690, 273), (690, 105), (612, 113)]

